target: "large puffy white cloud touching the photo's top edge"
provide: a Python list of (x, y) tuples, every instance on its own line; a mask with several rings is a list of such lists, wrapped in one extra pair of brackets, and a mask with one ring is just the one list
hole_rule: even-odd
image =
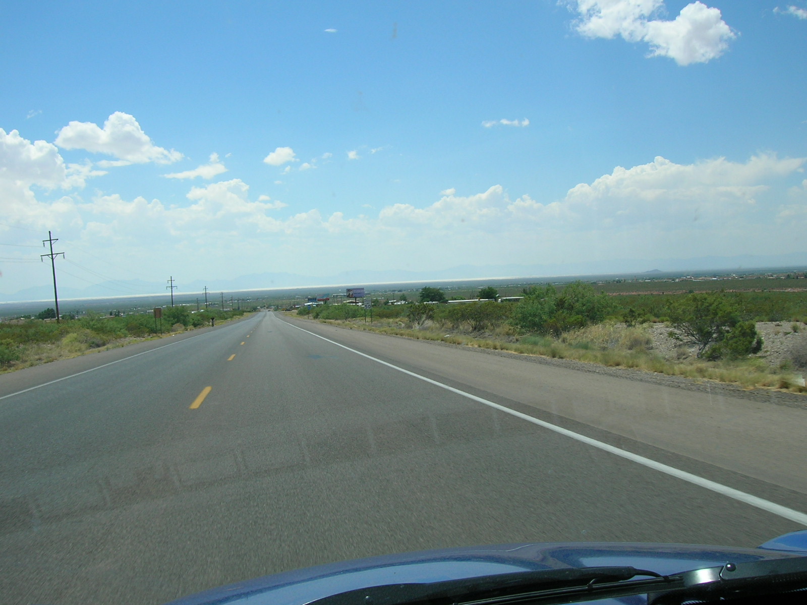
[(653, 19), (664, 0), (568, 0), (579, 15), (575, 29), (587, 38), (650, 44), (650, 56), (668, 56), (678, 65), (706, 63), (721, 56), (737, 37), (719, 9), (691, 2), (672, 20)]

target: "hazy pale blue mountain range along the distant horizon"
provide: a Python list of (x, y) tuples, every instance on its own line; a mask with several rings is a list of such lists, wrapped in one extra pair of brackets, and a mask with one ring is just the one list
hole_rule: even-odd
[[(335, 275), (315, 277), (299, 273), (251, 273), (231, 279), (196, 280), (184, 283), (178, 280), (177, 294), (202, 292), (234, 292), (237, 290), (270, 290), (305, 286), (366, 286), (368, 284), (402, 282), (439, 282), (464, 279), (494, 279), (501, 277), (557, 277), (572, 275), (616, 275), (650, 273), (695, 273), (703, 271), (731, 271), (765, 269), (773, 267), (807, 267), (807, 252), (792, 254), (737, 257), (700, 257), (688, 259), (587, 261), (577, 263), (554, 263), (549, 265), (460, 265), (436, 271), (387, 271), (354, 270)], [(138, 294), (161, 294), (165, 282), (124, 280), (101, 282), (86, 288), (60, 287), (59, 298), (108, 298), (112, 296), (135, 296)], [(35, 286), (13, 293), (0, 293), (0, 302), (47, 301), (52, 298), (52, 286)]]

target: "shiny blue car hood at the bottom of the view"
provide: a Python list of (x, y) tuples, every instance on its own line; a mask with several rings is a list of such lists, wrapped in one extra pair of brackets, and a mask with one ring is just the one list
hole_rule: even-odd
[[(564, 568), (632, 565), (669, 575), (701, 567), (804, 556), (807, 531), (769, 540), (757, 549), (726, 546), (550, 543), (430, 550), (318, 565), (207, 590), (169, 605), (303, 605), (348, 590), (385, 584)], [(631, 603), (635, 602), (635, 597)], [(612, 601), (618, 603), (618, 601)]]

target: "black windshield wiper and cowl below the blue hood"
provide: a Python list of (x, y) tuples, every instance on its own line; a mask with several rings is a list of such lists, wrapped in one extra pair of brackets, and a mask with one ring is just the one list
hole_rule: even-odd
[(692, 599), (709, 603), (801, 590), (807, 590), (807, 557), (726, 563), (669, 576), (627, 566), (586, 567), (390, 584), (350, 590), (312, 605), (549, 605), (630, 595), (648, 595), (653, 605), (679, 605)]

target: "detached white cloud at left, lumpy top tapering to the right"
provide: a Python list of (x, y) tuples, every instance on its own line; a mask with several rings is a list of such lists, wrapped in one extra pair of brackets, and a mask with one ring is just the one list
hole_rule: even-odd
[(91, 122), (70, 122), (56, 136), (56, 144), (65, 149), (85, 149), (105, 153), (132, 164), (171, 164), (182, 159), (182, 153), (157, 147), (132, 115), (115, 111), (103, 128)]

